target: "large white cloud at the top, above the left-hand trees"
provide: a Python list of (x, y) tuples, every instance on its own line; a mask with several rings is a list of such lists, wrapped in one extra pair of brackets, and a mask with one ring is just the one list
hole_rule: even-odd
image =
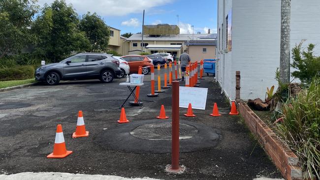
[[(41, 6), (54, 0), (38, 0)], [(72, 3), (78, 13), (96, 12), (100, 16), (124, 16), (130, 13), (142, 13), (153, 7), (164, 5), (173, 0), (65, 0)]]

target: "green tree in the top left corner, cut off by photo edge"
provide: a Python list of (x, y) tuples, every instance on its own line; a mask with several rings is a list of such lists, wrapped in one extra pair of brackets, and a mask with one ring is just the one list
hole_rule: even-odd
[(19, 53), (31, 41), (32, 17), (38, 11), (36, 0), (0, 0), (0, 59)]

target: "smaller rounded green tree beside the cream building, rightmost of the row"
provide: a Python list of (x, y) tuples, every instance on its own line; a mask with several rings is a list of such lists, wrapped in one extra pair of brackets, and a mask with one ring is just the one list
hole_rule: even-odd
[(108, 47), (110, 29), (96, 13), (82, 16), (79, 24), (79, 30), (85, 32), (90, 41), (90, 47), (87, 51), (103, 52)]

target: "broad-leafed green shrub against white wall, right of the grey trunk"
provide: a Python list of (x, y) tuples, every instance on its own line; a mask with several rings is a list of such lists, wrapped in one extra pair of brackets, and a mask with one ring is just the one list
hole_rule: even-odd
[(299, 78), (302, 83), (310, 84), (313, 77), (320, 77), (320, 57), (313, 55), (314, 44), (309, 44), (307, 51), (302, 51), (302, 43), (300, 42), (292, 49), (291, 66), (298, 71), (292, 72), (291, 75)]

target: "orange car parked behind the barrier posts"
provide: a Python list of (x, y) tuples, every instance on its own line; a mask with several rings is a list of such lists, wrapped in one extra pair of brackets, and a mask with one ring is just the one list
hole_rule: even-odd
[(142, 74), (148, 74), (150, 72), (150, 68), (146, 66), (151, 66), (152, 60), (149, 59), (147, 56), (140, 56), (140, 55), (127, 55), (121, 57), (124, 60), (128, 61), (130, 66), (130, 73), (138, 72), (139, 66), (145, 67), (142, 68)]

